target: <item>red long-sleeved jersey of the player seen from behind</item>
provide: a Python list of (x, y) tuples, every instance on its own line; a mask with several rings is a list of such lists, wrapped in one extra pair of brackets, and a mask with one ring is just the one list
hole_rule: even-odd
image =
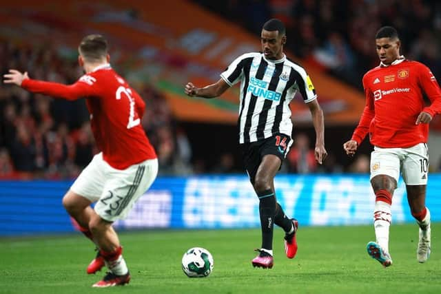
[(156, 158), (141, 125), (145, 103), (110, 65), (97, 67), (73, 85), (26, 79), (21, 87), (54, 98), (86, 98), (96, 145), (112, 167), (125, 169)]

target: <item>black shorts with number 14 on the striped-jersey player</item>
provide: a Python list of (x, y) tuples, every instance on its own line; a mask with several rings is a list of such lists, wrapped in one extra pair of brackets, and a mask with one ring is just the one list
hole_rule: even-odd
[[(245, 165), (249, 180), (254, 184), (254, 178), (263, 156), (273, 154), (283, 162), (291, 144), (291, 137), (285, 134), (276, 134), (256, 142), (241, 144), (243, 164)], [(282, 167), (281, 164), (280, 167)]]

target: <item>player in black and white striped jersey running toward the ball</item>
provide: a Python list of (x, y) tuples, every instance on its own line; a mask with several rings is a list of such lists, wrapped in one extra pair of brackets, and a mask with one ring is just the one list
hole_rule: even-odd
[(285, 25), (270, 19), (260, 34), (262, 52), (243, 54), (220, 74), (220, 79), (205, 87), (185, 85), (189, 96), (218, 97), (240, 82), (238, 116), (239, 143), (249, 180), (259, 199), (262, 244), (253, 266), (271, 269), (274, 224), (285, 231), (285, 253), (294, 258), (297, 252), (298, 221), (288, 218), (276, 200), (274, 176), (280, 169), (292, 144), (289, 103), (299, 92), (309, 107), (316, 130), (316, 160), (327, 156), (324, 143), (323, 113), (316, 90), (305, 69), (289, 61), (283, 52), (287, 41)]

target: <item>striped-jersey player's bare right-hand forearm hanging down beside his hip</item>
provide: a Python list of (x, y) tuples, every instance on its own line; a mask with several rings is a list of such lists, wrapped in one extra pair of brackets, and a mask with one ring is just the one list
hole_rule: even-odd
[(321, 165), (328, 155), (325, 149), (325, 125), (323, 119), (323, 111), (317, 100), (307, 103), (309, 111), (312, 116), (312, 123), (316, 130), (316, 148), (314, 149), (314, 155), (317, 162)]

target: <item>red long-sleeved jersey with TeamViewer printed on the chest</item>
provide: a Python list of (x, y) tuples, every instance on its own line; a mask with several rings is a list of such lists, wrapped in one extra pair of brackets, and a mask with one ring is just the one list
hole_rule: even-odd
[(363, 76), (363, 87), (366, 106), (352, 140), (360, 145), (369, 132), (371, 143), (383, 148), (427, 143), (429, 124), (416, 125), (418, 115), (424, 111), (433, 118), (441, 112), (440, 86), (427, 66), (407, 59), (380, 65)]

